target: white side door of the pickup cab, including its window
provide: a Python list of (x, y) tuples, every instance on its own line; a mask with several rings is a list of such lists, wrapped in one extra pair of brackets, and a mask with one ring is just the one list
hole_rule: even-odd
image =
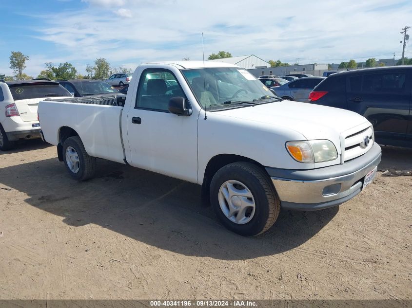
[[(176, 83), (167, 86), (166, 80)], [(146, 69), (141, 73), (135, 107), (127, 116), (131, 165), (197, 182), (198, 115), (170, 113), (169, 100), (176, 96), (187, 99), (171, 71)]]

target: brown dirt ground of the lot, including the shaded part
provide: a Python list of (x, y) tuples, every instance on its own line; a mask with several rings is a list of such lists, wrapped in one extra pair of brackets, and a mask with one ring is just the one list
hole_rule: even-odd
[[(383, 147), (380, 168), (412, 169)], [(98, 160), (72, 180), (56, 148), (0, 153), (0, 299), (412, 299), (412, 177), (345, 204), (230, 233), (200, 187)]]

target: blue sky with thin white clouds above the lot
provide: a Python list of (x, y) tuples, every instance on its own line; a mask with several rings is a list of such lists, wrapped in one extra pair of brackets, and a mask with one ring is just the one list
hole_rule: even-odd
[[(11, 51), (29, 55), (25, 73), (70, 62), (79, 73), (105, 57), (135, 69), (157, 60), (192, 60), (224, 50), (293, 64), (400, 58), (401, 28), (412, 26), (408, 0), (1, 1), (0, 74)], [(411, 32), (412, 34), (412, 29)], [(411, 44), (411, 43), (410, 43)], [(412, 56), (408, 44), (406, 56)]]

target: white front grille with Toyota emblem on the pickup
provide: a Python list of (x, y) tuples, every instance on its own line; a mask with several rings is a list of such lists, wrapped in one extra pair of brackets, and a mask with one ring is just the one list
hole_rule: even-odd
[(359, 157), (366, 152), (373, 145), (373, 129), (372, 127), (367, 127), (361, 131), (358, 131), (352, 135), (345, 138), (344, 146), (345, 152), (343, 156), (343, 162), (347, 162), (356, 157)]

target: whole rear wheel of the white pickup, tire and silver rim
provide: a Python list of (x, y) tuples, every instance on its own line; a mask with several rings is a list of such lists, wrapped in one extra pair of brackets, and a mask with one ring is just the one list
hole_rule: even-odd
[(72, 178), (85, 181), (96, 172), (96, 158), (87, 154), (79, 136), (69, 137), (63, 143), (63, 161)]

